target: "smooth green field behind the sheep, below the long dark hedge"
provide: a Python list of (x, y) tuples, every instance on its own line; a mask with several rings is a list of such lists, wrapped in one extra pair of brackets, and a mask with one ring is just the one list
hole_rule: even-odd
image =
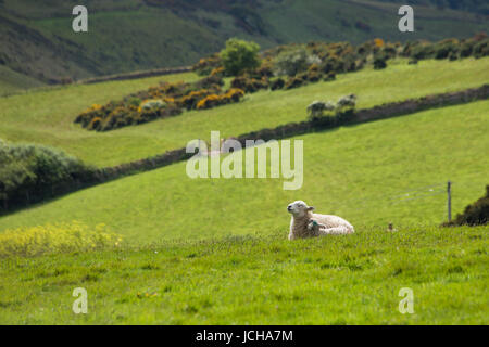
[[(106, 223), (138, 244), (274, 231), (285, 236), (285, 206), (299, 198), (356, 227), (434, 226), (447, 216), (447, 180), (454, 181), (454, 211), (482, 194), (487, 119), (489, 101), (481, 101), (300, 137), (300, 191), (284, 191), (283, 179), (191, 180), (180, 163), (2, 217), (0, 230), (80, 220)], [(434, 184), (430, 192), (426, 187)], [(439, 194), (425, 196), (432, 193)]]

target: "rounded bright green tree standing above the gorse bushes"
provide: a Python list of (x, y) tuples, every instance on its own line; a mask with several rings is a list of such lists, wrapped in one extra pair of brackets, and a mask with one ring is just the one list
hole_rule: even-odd
[(226, 41), (226, 48), (221, 51), (221, 60), (228, 76), (238, 76), (246, 70), (260, 66), (260, 46), (254, 42), (231, 38)]

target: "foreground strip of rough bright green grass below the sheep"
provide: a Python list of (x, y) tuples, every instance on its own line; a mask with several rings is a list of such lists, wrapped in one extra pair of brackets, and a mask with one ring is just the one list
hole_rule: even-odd
[[(275, 234), (2, 260), (0, 324), (488, 324), (487, 231)], [(88, 314), (72, 311), (79, 286)], [(398, 310), (402, 287), (414, 314)]]

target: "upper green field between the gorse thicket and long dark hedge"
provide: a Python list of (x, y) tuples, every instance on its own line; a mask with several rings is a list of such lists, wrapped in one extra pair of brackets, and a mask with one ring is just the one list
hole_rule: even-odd
[[(290, 91), (262, 91), (248, 95), (247, 101), (240, 104), (193, 111), (175, 118), (106, 133), (86, 131), (73, 125), (73, 119), (92, 103), (120, 99), (128, 92), (155, 85), (162, 78), (70, 86), (1, 98), (0, 138), (54, 145), (90, 164), (110, 166), (181, 147), (191, 139), (208, 139), (211, 130), (220, 130), (222, 136), (230, 137), (300, 121), (305, 118), (305, 107), (313, 100), (336, 100), (354, 92), (359, 95), (359, 107), (368, 107), (478, 87), (487, 82), (484, 72), (488, 68), (489, 59), (425, 61), (419, 65), (398, 62), (381, 72), (365, 69), (340, 75), (335, 82), (318, 82)], [(165, 79), (184, 78), (196, 77), (187, 74)]]

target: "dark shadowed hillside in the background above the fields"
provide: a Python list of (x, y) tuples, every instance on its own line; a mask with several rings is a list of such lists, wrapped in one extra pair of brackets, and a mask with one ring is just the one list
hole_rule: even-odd
[(487, 18), (474, 13), (484, 13), (484, 8), (436, 9), (426, 1), (414, 5), (416, 33), (403, 35), (397, 29), (399, 4), (378, 1), (125, 0), (90, 3), (89, 33), (75, 34), (71, 29), (75, 4), (0, 2), (0, 64), (40, 82), (58, 83), (192, 64), (218, 51), (233, 36), (253, 39), (266, 49), (314, 40), (439, 40), (488, 31)]

